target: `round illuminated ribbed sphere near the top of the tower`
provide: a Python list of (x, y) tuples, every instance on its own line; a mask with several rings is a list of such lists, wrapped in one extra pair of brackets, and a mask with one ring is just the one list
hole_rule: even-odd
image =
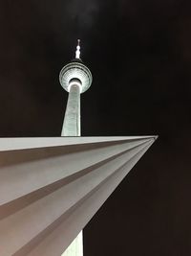
[(85, 92), (92, 83), (92, 74), (84, 64), (79, 62), (71, 62), (64, 66), (59, 74), (59, 81), (66, 91), (70, 91), (70, 81), (81, 81), (80, 93)]

